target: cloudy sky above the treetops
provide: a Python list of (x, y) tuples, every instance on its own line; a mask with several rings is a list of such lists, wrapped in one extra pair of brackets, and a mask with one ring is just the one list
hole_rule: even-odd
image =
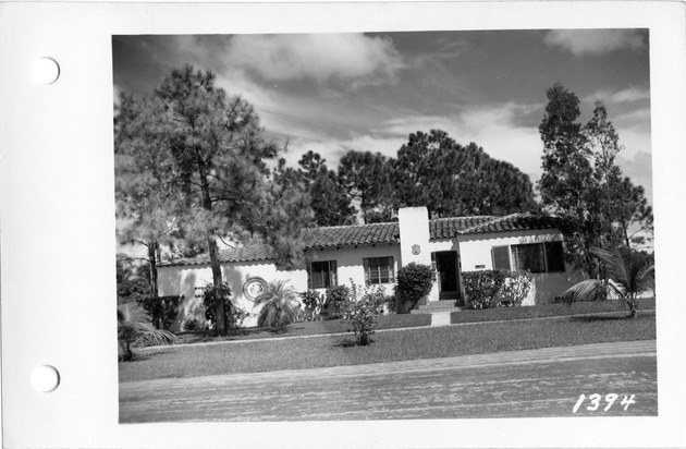
[(172, 69), (211, 70), (249, 101), (270, 137), (331, 169), (348, 149), (395, 157), (409, 133), (475, 142), (536, 182), (546, 90), (604, 101), (624, 149), (617, 163), (652, 203), (647, 29), (114, 36), (113, 83), (149, 94)]

